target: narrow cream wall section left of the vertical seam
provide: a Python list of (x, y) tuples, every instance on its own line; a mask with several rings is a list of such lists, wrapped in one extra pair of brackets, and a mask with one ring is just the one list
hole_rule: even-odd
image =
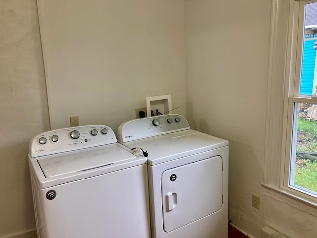
[(1, 1), (1, 237), (35, 228), (27, 153), (49, 129), (36, 1)]

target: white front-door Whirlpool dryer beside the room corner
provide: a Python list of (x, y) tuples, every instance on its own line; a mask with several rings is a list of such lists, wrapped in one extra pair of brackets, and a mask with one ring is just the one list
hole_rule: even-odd
[(125, 122), (117, 138), (140, 158), (148, 153), (153, 238), (228, 237), (227, 140), (190, 129), (181, 115)]

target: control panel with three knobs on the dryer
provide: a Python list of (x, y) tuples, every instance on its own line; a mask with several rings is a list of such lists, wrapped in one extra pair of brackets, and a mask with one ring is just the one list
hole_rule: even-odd
[(190, 127), (183, 116), (168, 114), (127, 121), (119, 126), (117, 137), (128, 142), (187, 129)]

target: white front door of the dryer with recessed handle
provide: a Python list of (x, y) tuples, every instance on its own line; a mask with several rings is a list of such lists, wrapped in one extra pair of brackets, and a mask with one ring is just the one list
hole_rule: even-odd
[(215, 156), (163, 172), (164, 231), (210, 215), (222, 206), (222, 159)]

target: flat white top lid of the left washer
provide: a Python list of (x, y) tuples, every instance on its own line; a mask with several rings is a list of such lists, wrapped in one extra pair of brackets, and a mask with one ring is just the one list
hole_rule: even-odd
[[(73, 172), (84, 172), (101, 167), (111, 167), (116, 163), (135, 159), (136, 156), (125, 149), (110, 144), (92, 149), (83, 149), (45, 156), (37, 159), (46, 178), (57, 177)], [(128, 167), (128, 166), (127, 166)]]

